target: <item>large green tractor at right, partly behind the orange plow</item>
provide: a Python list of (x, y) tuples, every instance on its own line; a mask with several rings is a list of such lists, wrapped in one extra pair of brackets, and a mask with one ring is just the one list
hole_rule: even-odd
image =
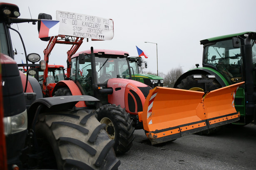
[(256, 119), (256, 33), (242, 32), (200, 41), (204, 45), (202, 67), (181, 75), (174, 88), (210, 91), (244, 81), (235, 95), (235, 108), (246, 125)]

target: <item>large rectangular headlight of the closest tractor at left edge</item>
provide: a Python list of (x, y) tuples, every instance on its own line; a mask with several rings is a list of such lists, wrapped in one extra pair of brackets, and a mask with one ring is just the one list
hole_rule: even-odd
[(5, 135), (15, 134), (27, 129), (27, 110), (11, 117), (4, 117)]

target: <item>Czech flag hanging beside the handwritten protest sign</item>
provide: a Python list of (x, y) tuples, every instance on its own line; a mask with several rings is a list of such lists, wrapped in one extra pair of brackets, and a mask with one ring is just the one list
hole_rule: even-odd
[(59, 34), (60, 21), (41, 19), (39, 38), (57, 36)]

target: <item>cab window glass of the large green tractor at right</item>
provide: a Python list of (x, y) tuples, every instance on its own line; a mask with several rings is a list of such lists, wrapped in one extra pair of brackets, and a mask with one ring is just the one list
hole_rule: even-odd
[(241, 58), (241, 49), (234, 48), (230, 39), (206, 46), (203, 63), (216, 67), (229, 83), (234, 84), (242, 81)]

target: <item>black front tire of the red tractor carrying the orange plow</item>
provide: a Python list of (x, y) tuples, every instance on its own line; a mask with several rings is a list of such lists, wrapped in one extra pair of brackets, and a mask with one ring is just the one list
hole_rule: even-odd
[(114, 139), (114, 151), (123, 154), (129, 151), (134, 140), (134, 127), (129, 113), (115, 104), (107, 104), (96, 110), (100, 123), (106, 124), (109, 138)]

